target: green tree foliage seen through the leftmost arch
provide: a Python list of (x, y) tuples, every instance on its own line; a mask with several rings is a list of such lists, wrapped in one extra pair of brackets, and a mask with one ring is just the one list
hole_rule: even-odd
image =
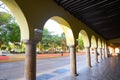
[(9, 42), (20, 42), (20, 29), (10, 14), (0, 12), (0, 46), (4, 44), (9, 47)]

